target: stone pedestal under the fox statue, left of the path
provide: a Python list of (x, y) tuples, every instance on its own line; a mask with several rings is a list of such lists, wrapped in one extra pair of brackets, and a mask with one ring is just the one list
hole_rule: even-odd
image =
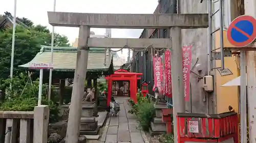
[(95, 104), (82, 104), (80, 135), (97, 135), (98, 122), (93, 117)]

